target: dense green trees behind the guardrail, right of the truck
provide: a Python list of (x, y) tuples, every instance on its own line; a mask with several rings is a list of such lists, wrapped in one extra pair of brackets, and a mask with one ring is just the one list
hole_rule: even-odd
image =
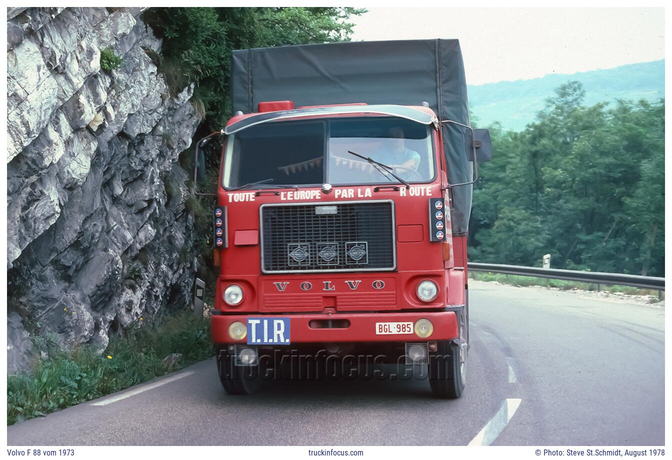
[(561, 85), (521, 132), (491, 126), (470, 260), (665, 274), (665, 105), (585, 102)]

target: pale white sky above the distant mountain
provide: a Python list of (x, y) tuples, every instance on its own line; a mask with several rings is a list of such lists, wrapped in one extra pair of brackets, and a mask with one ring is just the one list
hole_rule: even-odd
[(458, 38), (469, 85), (665, 58), (663, 8), (368, 8), (352, 40)]

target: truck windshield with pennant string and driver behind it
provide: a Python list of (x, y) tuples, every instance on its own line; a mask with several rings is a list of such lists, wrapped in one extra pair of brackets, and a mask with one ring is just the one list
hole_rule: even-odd
[(435, 175), (429, 126), (392, 117), (336, 118), (270, 122), (229, 136), (222, 185), (398, 183), (384, 167), (349, 151), (408, 182)]

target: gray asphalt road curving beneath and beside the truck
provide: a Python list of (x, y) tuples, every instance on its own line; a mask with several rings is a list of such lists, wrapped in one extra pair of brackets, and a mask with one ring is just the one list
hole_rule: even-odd
[(253, 396), (228, 396), (210, 360), (113, 395), (122, 399), (9, 426), (7, 443), (665, 443), (663, 308), (471, 281), (470, 310), (459, 400), (431, 398), (424, 379), (274, 381)]

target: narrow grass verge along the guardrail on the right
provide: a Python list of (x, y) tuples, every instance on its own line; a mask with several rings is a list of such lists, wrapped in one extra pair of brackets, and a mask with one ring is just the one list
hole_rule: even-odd
[[(556, 287), (558, 289), (583, 289), (584, 291), (597, 291), (596, 283), (581, 283), (580, 281), (565, 281), (563, 279), (548, 279), (531, 276), (520, 275), (505, 275), (504, 273), (489, 273), (482, 271), (470, 271), (469, 277), (478, 281), (498, 281), (503, 284), (510, 284), (514, 286), (546, 286)], [(658, 295), (655, 289), (640, 289), (639, 287), (623, 286), (623, 285), (606, 285), (600, 284), (599, 291), (622, 293), (628, 295)], [(663, 293), (663, 299), (665, 293)], [(651, 300), (651, 303), (656, 303), (658, 297)]]

